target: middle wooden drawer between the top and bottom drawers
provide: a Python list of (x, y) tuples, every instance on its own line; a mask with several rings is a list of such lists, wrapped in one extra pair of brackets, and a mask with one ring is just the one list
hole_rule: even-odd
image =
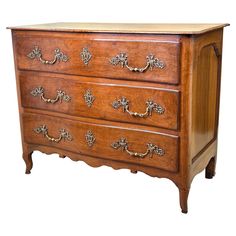
[[(179, 92), (140, 83), (19, 73), (22, 106), (176, 130)], [(137, 85), (138, 84), (138, 85)], [(64, 94), (63, 94), (64, 93)]]

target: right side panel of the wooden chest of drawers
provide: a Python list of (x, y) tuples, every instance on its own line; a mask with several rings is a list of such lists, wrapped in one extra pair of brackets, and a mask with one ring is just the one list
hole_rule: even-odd
[(222, 30), (193, 40), (190, 156), (194, 162), (217, 135)]

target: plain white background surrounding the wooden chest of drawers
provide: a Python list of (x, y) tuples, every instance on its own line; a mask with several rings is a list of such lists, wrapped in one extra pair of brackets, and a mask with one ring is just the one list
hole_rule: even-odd
[[(0, 3), (0, 235), (235, 235), (235, 7), (228, 1)], [(217, 174), (198, 175), (189, 213), (171, 181), (34, 153), (25, 175), (11, 34), (6, 26), (57, 21), (231, 23), (224, 31)]]

